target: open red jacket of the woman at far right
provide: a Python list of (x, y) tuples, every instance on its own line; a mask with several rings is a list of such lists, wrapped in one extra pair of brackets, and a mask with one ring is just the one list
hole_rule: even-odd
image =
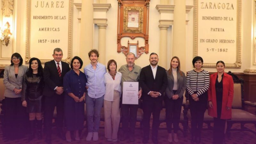
[[(216, 91), (215, 82), (217, 78), (217, 73), (210, 76), (210, 87), (208, 90), (208, 101), (212, 101), (212, 108), (208, 108), (208, 115), (217, 117), (217, 101), (216, 101)], [(227, 110), (226, 107), (232, 107), (233, 96), (234, 96), (234, 82), (232, 76), (224, 73), (223, 79), (223, 93), (222, 93), (222, 107), (220, 119), (230, 119), (231, 109)]]

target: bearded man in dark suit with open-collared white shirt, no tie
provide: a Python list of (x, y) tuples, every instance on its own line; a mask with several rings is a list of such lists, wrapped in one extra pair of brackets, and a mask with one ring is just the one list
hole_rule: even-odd
[(151, 53), (149, 56), (150, 65), (142, 68), (140, 72), (144, 132), (143, 143), (148, 143), (151, 113), (153, 114), (152, 141), (154, 144), (158, 143), (159, 116), (164, 100), (164, 91), (167, 86), (165, 69), (157, 65), (158, 60), (158, 55), (154, 52)]

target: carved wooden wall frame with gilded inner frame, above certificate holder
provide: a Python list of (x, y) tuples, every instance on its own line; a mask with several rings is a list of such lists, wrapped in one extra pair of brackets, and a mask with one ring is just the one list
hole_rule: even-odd
[[(138, 57), (142, 53), (148, 53), (148, 17), (150, 0), (118, 0), (118, 19), (117, 19), (117, 52), (127, 54), (127, 47), (121, 45), (123, 37), (144, 38), (145, 46), (138, 47)], [(130, 13), (131, 12), (131, 13)], [(129, 14), (133, 17), (129, 19)], [(137, 16), (138, 15), (138, 16)], [(135, 21), (130, 23), (130, 21)], [(138, 22), (136, 21), (138, 20)], [(138, 58), (137, 57), (137, 58)], [(137, 59), (136, 58), (136, 59)]]

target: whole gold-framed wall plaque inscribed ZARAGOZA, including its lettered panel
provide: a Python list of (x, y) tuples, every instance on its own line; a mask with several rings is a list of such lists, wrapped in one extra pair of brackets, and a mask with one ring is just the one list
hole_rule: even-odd
[(241, 0), (194, 1), (194, 56), (204, 67), (241, 68)]

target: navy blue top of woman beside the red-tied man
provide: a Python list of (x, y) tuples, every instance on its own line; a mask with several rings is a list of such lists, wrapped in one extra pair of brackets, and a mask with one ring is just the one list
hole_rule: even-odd
[(86, 92), (86, 76), (83, 72), (80, 71), (79, 76), (76, 72), (71, 69), (66, 73), (63, 78), (63, 87), (66, 94), (73, 93), (78, 98), (81, 98)]

